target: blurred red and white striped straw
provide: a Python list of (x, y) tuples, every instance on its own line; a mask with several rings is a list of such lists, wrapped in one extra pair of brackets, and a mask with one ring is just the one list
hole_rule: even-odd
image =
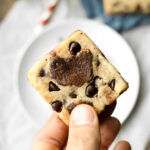
[(54, 10), (58, 4), (59, 0), (50, 0), (48, 7), (45, 9), (44, 13), (41, 16), (41, 19), (38, 25), (34, 29), (34, 35), (39, 35), (43, 29), (43, 27), (49, 22), (52, 18)]

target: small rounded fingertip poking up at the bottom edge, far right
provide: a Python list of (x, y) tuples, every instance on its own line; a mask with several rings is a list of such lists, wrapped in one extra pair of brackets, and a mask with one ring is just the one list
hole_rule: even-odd
[(131, 145), (127, 141), (119, 141), (114, 150), (131, 150)]

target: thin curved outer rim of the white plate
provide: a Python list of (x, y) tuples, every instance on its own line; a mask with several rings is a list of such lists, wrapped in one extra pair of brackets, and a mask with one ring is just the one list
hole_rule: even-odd
[(22, 102), (22, 98), (21, 98), (21, 94), (20, 94), (20, 90), (19, 90), (19, 70), (22, 64), (22, 60), (26, 54), (26, 52), (29, 50), (29, 47), (32, 45), (32, 43), (34, 43), (40, 36), (44, 35), (47, 31), (53, 29), (54, 27), (60, 26), (61, 24), (64, 24), (66, 22), (87, 22), (88, 24), (97, 24), (99, 26), (103, 26), (104, 28), (107, 28), (107, 30), (110, 30), (113, 34), (116, 34), (120, 40), (122, 40), (126, 46), (128, 47), (128, 49), (130, 50), (130, 53), (132, 54), (132, 57), (135, 60), (136, 63), (136, 69), (138, 72), (137, 78), (138, 78), (138, 88), (137, 88), (137, 92), (135, 95), (135, 101), (130, 109), (130, 111), (126, 114), (126, 117), (124, 119), (124, 121), (122, 122), (122, 124), (125, 123), (125, 121), (128, 119), (128, 117), (131, 115), (135, 104), (137, 102), (138, 96), (139, 96), (139, 90), (140, 90), (140, 84), (141, 84), (141, 80), (140, 80), (140, 70), (139, 70), (139, 64), (137, 61), (137, 58), (132, 50), (132, 48), (130, 47), (130, 45), (128, 44), (128, 42), (114, 29), (112, 29), (111, 27), (109, 27), (108, 25), (98, 22), (98, 21), (94, 21), (94, 20), (90, 20), (90, 19), (85, 19), (85, 18), (70, 18), (70, 19), (64, 19), (64, 20), (60, 20), (60, 21), (56, 21), (51, 23), (50, 26), (47, 26), (44, 28), (44, 30), (36, 37), (31, 37), (27, 40), (27, 42), (19, 49), (20, 52), (18, 52), (17, 54), (17, 59), (16, 59), (16, 64), (15, 64), (15, 73), (14, 73), (14, 79), (13, 79), (13, 85), (14, 85), (14, 90), (15, 90), (15, 96), (16, 96), (16, 101), (19, 107), (22, 107), (24, 114), (28, 117), (28, 119), (33, 123), (34, 126), (39, 126), (37, 121), (30, 115), (30, 113), (28, 112), (27, 108), (25, 107), (25, 105)]

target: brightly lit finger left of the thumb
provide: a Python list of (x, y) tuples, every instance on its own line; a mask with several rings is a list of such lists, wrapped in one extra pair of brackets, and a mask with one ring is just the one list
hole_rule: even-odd
[(68, 127), (53, 113), (44, 128), (37, 135), (32, 150), (58, 150), (68, 136)]

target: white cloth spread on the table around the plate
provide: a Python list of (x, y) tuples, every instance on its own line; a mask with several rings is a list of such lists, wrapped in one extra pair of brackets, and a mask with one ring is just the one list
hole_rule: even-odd
[[(12, 81), (16, 74), (14, 64), (17, 54), (30, 38), (46, 3), (47, 0), (19, 0), (0, 24), (0, 149), (2, 150), (31, 149), (39, 131), (17, 103), (15, 85)], [(79, 0), (62, 0), (52, 21), (84, 16)], [(129, 140), (133, 150), (144, 150), (150, 137), (150, 26), (134, 28), (122, 35), (138, 59), (141, 88), (135, 109), (122, 126), (116, 140)]]

